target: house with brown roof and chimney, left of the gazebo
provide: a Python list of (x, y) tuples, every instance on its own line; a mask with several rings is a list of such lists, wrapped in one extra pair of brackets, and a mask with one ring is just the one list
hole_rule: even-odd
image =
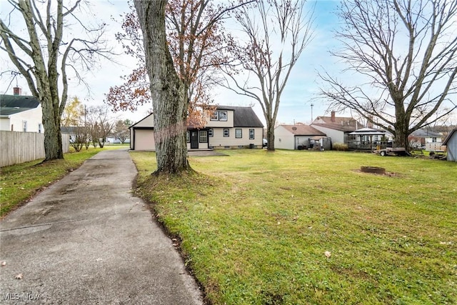
[(363, 125), (351, 117), (335, 116), (335, 111), (331, 111), (331, 116), (318, 116), (311, 127), (331, 138), (332, 144), (348, 144), (349, 134)]

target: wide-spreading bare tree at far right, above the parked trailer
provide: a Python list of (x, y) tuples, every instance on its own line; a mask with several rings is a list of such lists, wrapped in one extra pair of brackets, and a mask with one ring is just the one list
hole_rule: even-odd
[(343, 46), (332, 54), (368, 81), (322, 74), (331, 107), (356, 111), (406, 148), (409, 134), (456, 110), (457, 1), (347, 0), (338, 15)]

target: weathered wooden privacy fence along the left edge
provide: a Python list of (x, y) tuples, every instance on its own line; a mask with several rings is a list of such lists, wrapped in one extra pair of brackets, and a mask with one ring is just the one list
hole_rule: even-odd
[[(69, 152), (68, 134), (62, 134), (62, 149)], [(0, 131), (0, 167), (44, 159), (44, 156), (44, 134)]]

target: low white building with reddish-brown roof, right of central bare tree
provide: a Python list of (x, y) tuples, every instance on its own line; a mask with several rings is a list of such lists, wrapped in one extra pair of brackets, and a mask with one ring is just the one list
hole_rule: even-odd
[[(313, 146), (324, 146), (327, 144), (326, 134), (308, 125), (279, 125), (274, 129), (275, 149), (308, 149)], [(330, 149), (328, 145), (323, 147)]]

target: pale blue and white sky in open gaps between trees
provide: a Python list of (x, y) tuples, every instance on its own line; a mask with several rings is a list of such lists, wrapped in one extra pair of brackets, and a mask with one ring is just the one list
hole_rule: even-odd
[[(0, 0), (0, 7), (6, 8), (6, 0)], [(313, 5), (313, 2), (310, 2)], [(331, 56), (328, 54), (329, 48), (333, 44), (331, 39), (331, 29), (336, 24), (336, 16), (332, 14), (332, 11), (336, 9), (338, 1), (316, 1), (316, 37), (308, 46), (308, 49), (303, 51), (301, 59), (294, 67), (288, 84), (281, 99), (281, 106), (278, 112), (278, 121), (281, 123), (292, 124), (294, 121), (301, 121), (309, 123), (311, 121), (311, 99), (315, 97), (314, 94), (318, 91), (317, 74), (316, 71), (326, 69), (331, 71), (333, 64)], [(120, 46), (114, 39), (114, 34), (119, 31), (119, 24), (111, 20), (111, 16), (115, 16), (116, 19), (120, 20), (119, 14), (124, 11), (128, 11), (129, 7), (126, 1), (119, 0), (98, 0), (91, 2), (91, 12), (93, 16), (87, 18), (96, 18), (98, 21), (104, 21), (109, 24), (109, 32), (107, 33), (107, 39), (111, 41), (111, 44), (116, 46), (119, 53), (121, 53)], [(4, 17), (8, 11), (1, 10), (1, 16)], [(103, 61), (99, 64), (99, 68), (96, 71), (87, 72), (84, 78), (91, 84), (91, 92), (84, 88), (84, 86), (78, 86), (76, 81), (71, 83), (69, 90), (70, 96), (79, 96), (85, 104), (100, 104), (104, 99), (104, 94), (109, 91), (110, 86), (121, 84), (120, 76), (129, 74), (131, 69), (136, 66), (136, 62), (129, 58), (129, 56), (119, 56), (116, 59), (122, 64), (112, 64)], [(13, 66), (8, 62), (9, 59), (0, 55), (0, 65), (2, 67), (8, 67), (14, 69)], [(2, 69), (4, 71), (5, 68)], [(11, 94), (12, 87), (16, 85), (16, 82), (23, 89), (23, 93), (29, 93), (29, 89), (26, 86), (26, 82), (20, 76), (11, 83), (11, 74), (4, 74), (0, 78), (0, 92), (2, 94)], [(11, 83), (11, 84), (10, 84)], [(248, 106), (253, 103), (253, 100), (248, 99), (244, 96), (237, 96), (230, 91), (225, 89), (215, 90), (216, 95), (214, 100), (216, 104), (233, 105), (233, 106)], [(326, 106), (322, 101), (312, 101), (313, 103), (313, 116), (323, 115), (326, 110)], [(134, 121), (141, 119), (146, 115), (148, 106), (141, 107), (136, 113), (130, 112), (118, 112), (116, 116), (123, 118), (132, 119)], [(261, 113), (260, 106), (254, 106), (256, 113), (259, 118), (263, 121), (263, 114)]]

